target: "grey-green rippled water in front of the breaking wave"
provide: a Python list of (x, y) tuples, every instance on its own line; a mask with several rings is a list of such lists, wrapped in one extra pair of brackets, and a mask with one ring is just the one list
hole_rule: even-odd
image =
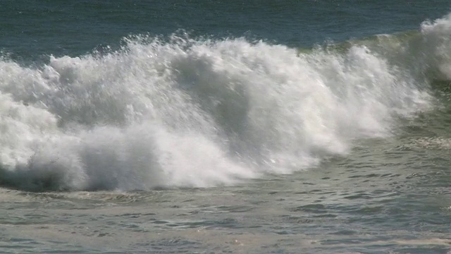
[(447, 253), (446, 148), (440, 151), (440, 140), (399, 144), (374, 141), (316, 169), (236, 187), (132, 193), (4, 190), (2, 249)]

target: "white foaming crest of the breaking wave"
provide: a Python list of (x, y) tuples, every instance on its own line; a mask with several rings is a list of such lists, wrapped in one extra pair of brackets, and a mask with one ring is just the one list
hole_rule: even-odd
[(173, 35), (35, 67), (3, 57), (0, 184), (209, 187), (314, 167), (431, 108), (431, 75), (451, 78), (450, 34), (447, 16), (308, 53)]

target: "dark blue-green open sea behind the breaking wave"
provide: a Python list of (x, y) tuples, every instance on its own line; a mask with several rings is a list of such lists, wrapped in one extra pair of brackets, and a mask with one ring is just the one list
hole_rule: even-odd
[(16, 58), (76, 56), (123, 37), (249, 37), (311, 47), (418, 29), (448, 1), (1, 1), (0, 48)]

